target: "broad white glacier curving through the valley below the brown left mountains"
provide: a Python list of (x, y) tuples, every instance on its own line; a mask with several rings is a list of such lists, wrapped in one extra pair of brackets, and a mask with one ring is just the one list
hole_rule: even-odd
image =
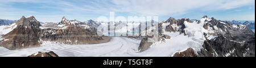
[(137, 48), (140, 40), (113, 37), (108, 43), (101, 44), (61, 44), (43, 42), (40, 47), (32, 47), (10, 51), (0, 47), (0, 56), (29, 56), (38, 51), (53, 51), (59, 56), (139, 56)]

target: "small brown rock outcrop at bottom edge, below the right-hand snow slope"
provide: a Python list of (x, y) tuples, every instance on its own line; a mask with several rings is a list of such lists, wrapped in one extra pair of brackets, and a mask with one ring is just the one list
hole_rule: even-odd
[(174, 57), (198, 57), (192, 48), (188, 48), (186, 51), (177, 52)]

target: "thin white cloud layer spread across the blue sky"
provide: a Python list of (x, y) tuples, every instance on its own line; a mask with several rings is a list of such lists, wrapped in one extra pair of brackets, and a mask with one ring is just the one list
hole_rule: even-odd
[[(40, 3), (38, 8), (61, 10), (62, 13), (69, 16), (79, 16), (81, 13), (109, 15), (109, 12), (112, 11), (124, 12), (127, 15), (129, 13), (145, 16), (183, 15), (193, 11), (229, 10), (255, 5), (254, 0), (0, 0), (0, 12), (5, 13), (5, 16), (39, 15), (35, 10), (24, 10), (23, 8), (9, 6), (10, 3), (14, 2)], [(49, 16), (51, 15), (49, 14)], [(56, 13), (54, 16), (61, 16), (61, 14)]]

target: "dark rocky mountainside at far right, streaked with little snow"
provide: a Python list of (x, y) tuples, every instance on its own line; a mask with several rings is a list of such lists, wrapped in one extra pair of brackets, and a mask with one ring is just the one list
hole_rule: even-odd
[[(252, 57), (255, 56), (255, 34), (245, 25), (233, 25), (216, 20), (212, 17), (205, 29), (213, 28), (214, 33), (205, 33), (217, 36), (204, 41), (203, 48), (197, 52), (200, 57)], [(183, 55), (193, 53), (183, 52)]]

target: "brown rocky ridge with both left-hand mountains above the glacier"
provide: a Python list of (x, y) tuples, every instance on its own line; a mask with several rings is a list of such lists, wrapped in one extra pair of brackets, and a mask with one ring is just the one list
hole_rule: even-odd
[[(67, 44), (95, 44), (108, 42), (111, 38), (99, 37), (96, 29), (77, 23), (76, 20), (64, 19), (53, 28), (42, 27), (34, 16), (22, 16), (13, 25), (16, 27), (2, 36), (0, 46), (7, 49), (38, 47), (42, 41), (61, 42)], [(75, 23), (74, 23), (75, 21)], [(64, 23), (63, 23), (64, 22)], [(60, 26), (59, 26), (60, 25)]]

